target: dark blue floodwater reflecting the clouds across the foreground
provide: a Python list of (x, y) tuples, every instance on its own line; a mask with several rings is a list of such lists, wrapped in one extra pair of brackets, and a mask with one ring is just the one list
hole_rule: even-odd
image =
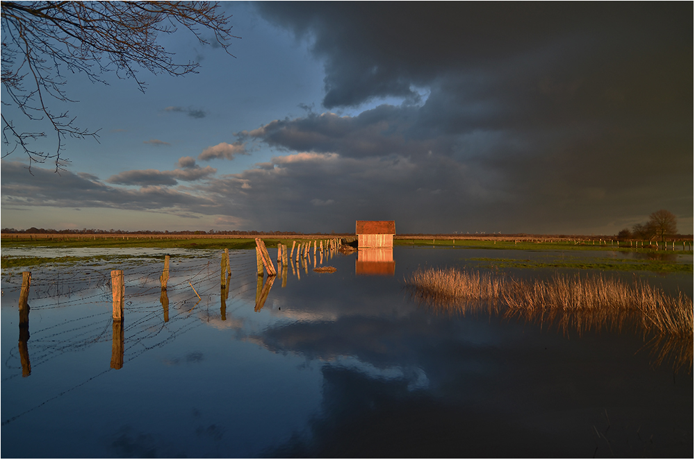
[[(452, 316), (404, 289), (418, 266), (549, 254), (396, 247), (386, 273), (354, 253), (259, 284), (254, 251), (230, 251), (224, 291), (221, 253), (172, 255), (166, 296), (161, 258), (34, 268), (28, 334), (3, 271), (1, 457), (692, 458), (692, 370), (639, 331)], [(637, 276), (692, 297), (691, 273)]]

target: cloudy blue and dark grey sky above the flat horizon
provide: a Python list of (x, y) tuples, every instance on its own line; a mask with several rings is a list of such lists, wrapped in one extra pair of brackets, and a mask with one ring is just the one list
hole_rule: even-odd
[(67, 78), (98, 141), (60, 173), (3, 144), (2, 228), (693, 233), (690, 2), (220, 8), (234, 57), (161, 37), (198, 74)]

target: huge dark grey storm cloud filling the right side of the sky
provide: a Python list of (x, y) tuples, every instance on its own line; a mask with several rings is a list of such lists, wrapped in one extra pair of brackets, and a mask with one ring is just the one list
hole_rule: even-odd
[[(404, 98), (354, 117), (309, 113), (243, 133), (287, 151), (400, 157), (417, 170), (382, 187), (343, 176), (325, 184), (332, 196), (320, 200), (343, 205), (348, 194), (338, 184), (352, 192), (351, 205), (371, 191), (371, 206), (382, 203), (411, 228), (443, 212), (429, 231), (617, 231), (664, 207), (692, 222), (687, 3), (262, 3), (259, 10), (311, 42), (325, 64), (327, 108)], [(302, 183), (295, 193), (309, 188)], [(400, 203), (398, 196), (412, 200), (416, 191), (439, 194), (440, 203)]]

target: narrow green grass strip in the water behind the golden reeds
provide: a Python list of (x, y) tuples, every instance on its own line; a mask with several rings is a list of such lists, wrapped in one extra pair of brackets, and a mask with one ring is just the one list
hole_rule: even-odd
[(660, 262), (658, 260), (645, 261), (617, 261), (616, 259), (596, 259), (594, 261), (550, 262), (520, 259), (493, 259), (489, 257), (473, 257), (477, 262), (489, 262), (482, 266), (514, 267), (520, 269), (584, 269), (584, 270), (618, 270), (618, 271), (656, 271), (661, 273), (693, 273), (692, 264), (677, 264), (675, 262)]

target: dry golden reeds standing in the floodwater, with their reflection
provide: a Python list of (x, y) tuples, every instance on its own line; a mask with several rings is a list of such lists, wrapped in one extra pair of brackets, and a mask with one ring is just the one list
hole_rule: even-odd
[(676, 367), (693, 362), (693, 301), (678, 293), (669, 296), (644, 281), (634, 284), (603, 275), (561, 275), (550, 280), (525, 281), (457, 269), (418, 269), (405, 280), (421, 302), (437, 312), (490, 311), (507, 307), (505, 316), (518, 316), (541, 325), (555, 324), (567, 333), (635, 325), (655, 346), (657, 361), (676, 356)]

